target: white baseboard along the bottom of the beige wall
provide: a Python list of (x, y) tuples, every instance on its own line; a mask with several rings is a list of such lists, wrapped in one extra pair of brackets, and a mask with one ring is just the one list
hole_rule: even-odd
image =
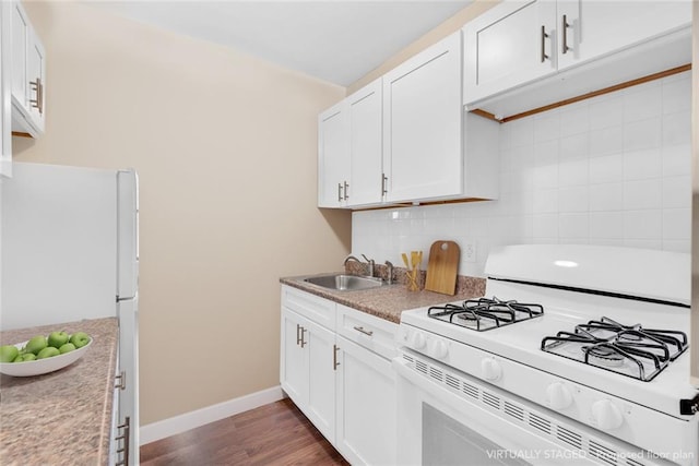
[(279, 402), (285, 397), (286, 394), (282, 392), (282, 387), (277, 385), (249, 395), (240, 396), (239, 398), (229, 399), (194, 411), (185, 413), (169, 419), (149, 423), (147, 426), (142, 426), (139, 429), (139, 443), (141, 445), (145, 445), (146, 443), (155, 442), (156, 440), (165, 439), (166, 437), (175, 435), (228, 416), (245, 413), (249, 409), (253, 409), (269, 403)]

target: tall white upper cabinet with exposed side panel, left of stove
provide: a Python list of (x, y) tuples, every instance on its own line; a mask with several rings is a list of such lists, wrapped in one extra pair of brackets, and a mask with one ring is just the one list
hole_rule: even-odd
[(465, 115), (457, 32), (383, 76), (386, 202), (497, 199), (498, 123)]

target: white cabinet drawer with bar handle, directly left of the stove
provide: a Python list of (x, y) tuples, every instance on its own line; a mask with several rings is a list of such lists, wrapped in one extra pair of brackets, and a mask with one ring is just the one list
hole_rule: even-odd
[(387, 359), (396, 355), (396, 332), (398, 324), (337, 304), (337, 334)]

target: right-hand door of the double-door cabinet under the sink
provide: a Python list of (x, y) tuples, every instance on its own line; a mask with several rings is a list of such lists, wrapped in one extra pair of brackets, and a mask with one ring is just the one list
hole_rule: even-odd
[(304, 323), (308, 353), (308, 408), (304, 413), (332, 444), (335, 443), (335, 333)]

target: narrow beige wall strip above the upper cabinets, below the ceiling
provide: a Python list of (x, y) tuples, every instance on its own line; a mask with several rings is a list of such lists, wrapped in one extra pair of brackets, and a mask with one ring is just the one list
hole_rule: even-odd
[(382, 76), (387, 72), (391, 71), (408, 58), (413, 57), (417, 52), (426, 49), (433, 44), (438, 43), (448, 35), (461, 29), (464, 24), (473, 20), (479, 14), (483, 14), (486, 10), (495, 7), (500, 0), (474, 0), (469, 7), (459, 11), (457, 14), (445, 21), (417, 40), (405, 47), (403, 50), (395, 53), (393, 57), (386, 60), (378, 68), (351, 84), (347, 87), (347, 95), (360, 89), (374, 80)]

